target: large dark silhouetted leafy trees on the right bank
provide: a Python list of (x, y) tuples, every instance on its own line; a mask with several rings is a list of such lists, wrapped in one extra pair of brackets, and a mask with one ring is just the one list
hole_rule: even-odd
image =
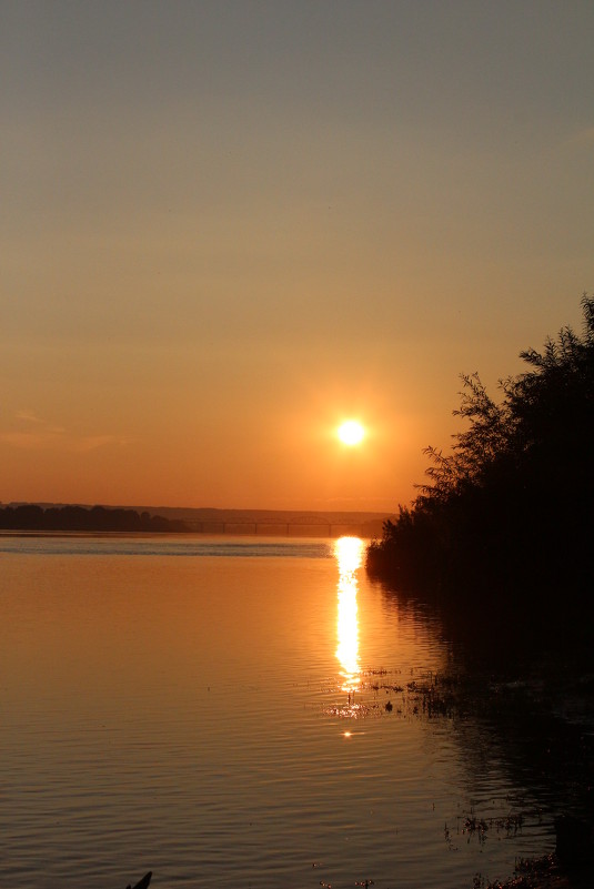
[(450, 598), (556, 589), (592, 608), (594, 299), (582, 307), (583, 335), (522, 352), (528, 370), (500, 381), (500, 401), (462, 376), (465, 428), (450, 453), (426, 448), (429, 481), (369, 547), (371, 574)]

